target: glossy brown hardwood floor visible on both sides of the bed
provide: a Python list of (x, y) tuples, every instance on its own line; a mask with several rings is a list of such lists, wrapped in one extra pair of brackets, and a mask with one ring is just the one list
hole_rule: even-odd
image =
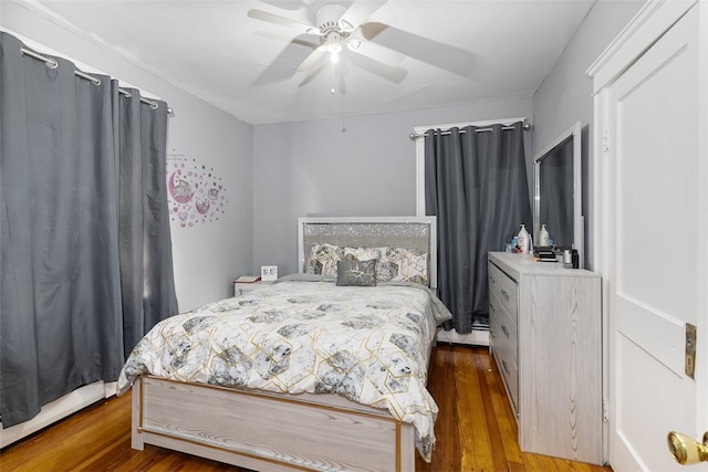
[[(433, 462), (421, 472), (611, 472), (544, 455), (522, 453), (501, 378), (486, 347), (439, 345), (428, 388), (438, 402)], [(146, 445), (131, 449), (129, 396), (111, 398), (10, 445), (0, 471), (242, 471), (235, 466)]]

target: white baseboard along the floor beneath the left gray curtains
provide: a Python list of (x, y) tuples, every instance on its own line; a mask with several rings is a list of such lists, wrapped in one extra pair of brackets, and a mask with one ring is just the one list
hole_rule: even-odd
[(0, 448), (12, 444), (20, 439), (45, 428), (71, 413), (87, 407), (103, 398), (115, 395), (116, 382), (96, 381), (64, 395), (51, 403), (46, 403), (40, 413), (29, 421), (3, 429), (0, 426)]

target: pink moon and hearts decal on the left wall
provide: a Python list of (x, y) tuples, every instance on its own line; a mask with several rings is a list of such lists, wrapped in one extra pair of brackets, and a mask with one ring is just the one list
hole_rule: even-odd
[(218, 221), (226, 213), (227, 191), (212, 167), (173, 149), (167, 153), (169, 218), (180, 228)]

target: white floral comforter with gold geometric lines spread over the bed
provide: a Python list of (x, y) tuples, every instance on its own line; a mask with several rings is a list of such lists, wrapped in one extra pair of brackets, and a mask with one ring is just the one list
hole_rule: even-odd
[(274, 392), (339, 394), (413, 423), (430, 461), (437, 405), (426, 390), (436, 326), (427, 287), (285, 281), (158, 323), (133, 349), (118, 395), (142, 374)]

